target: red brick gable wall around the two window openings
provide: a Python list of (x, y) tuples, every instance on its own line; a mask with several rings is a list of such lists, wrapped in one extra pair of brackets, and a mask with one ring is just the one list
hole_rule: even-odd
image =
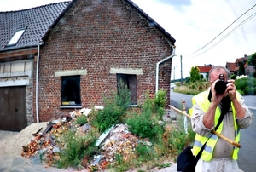
[[(116, 89), (110, 68), (142, 68), (137, 75), (137, 101), (155, 92), (156, 63), (172, 54), (172, 45), (136, 9), (122, 0), (102, 0), (73, 8), (49, 33), (40, 50), (38, 105), (40, 121), (59, 118), (61, 77), (55, 71), (86, 69), (81, 76), (82, 106), (102, 105), (102, 94)], [(172, 60), (160, 66), (159, 89), (170, 89)], [(169, 92), (168, 92), (169, 94)], [(168, 95), (169, 97), (169, 95)]]

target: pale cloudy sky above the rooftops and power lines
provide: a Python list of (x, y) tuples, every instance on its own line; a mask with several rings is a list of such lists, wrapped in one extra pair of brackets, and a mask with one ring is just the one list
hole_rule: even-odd
[[(63, 1), (0, 0), (0, 11)], [(172, 79), (189, 77), (192, 66), (225, 66), (256, 52), (255, 0), (132, 1), (176, 39)]]

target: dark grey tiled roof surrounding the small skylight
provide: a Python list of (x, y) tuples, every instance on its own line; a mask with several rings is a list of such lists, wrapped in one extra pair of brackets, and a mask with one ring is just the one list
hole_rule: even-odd
[[(0, 51), (38, 44), (44, 33), (49, 29), (49, 26), (67, 7), (68, 3), (70, 1), (51, 3), (32, 9), (0, 12)], [(26, 28), (26, 31), (20, 37), (19, 42), (13, 47), (6, 47), (10, 38), (20, 28)]]

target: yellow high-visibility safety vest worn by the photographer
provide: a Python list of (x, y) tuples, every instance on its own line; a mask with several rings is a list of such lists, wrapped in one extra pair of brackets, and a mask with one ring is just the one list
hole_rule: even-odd
[[(192, 98), (192, 104), (195, 105), (195, 102), (197, 103), (198, 106), (201, 107), (202, 111), (207, 112), (207, 109), (210, 106), (210, 102), (208, 100), (208, 95), (209, 95), (209, 90), (204, 91), (198, 95), (195, 95)], [(241, 100), (241, 95), (236, 92), (236, 97), (237, 100)], [(239, 127), (236, 123), (236, 110), (235, 107), (233, 105), (233, 102), (231, 102), (231, 108), (232, 108), (232, 112), (233, 112), (233, 117), (234, 117), (234, 124), (235, 124), (235, 141), (237, 143), (239, 143), (240, 141), (240, 132), (239, 132)], [(193, 108), (191, 108), (189, 110), (190, 116), (193, 113)], [(215, 112), (215, 118), (214, 118), (214, 123), (215, 125), (217, 125), (218, 123), (218, 118), (221, 114), (220, 108), (217, 107), (216, 112)], [(220, 123), (220, 125), (218, 126), (217, 132), (221, 133), (223, 129), (223, 122)], [(194, 155), (197, 155), (198, 152), (200, 152), (201, 150), (201, 146), (203, 146), (205, 144), (205, 142), (207, 141), (208, 137), (211, 136), (212, 133), (209, 133), (209, 135), (207, 136), (201, 136), (196, 134), (195, 135), (195, 143), (192, 149), (192, 152)], [(202, 154), (201, 154), (201, 159), (205, 160), (205, 161), (210, 161), (212, 159), (212, 153), (213, 153), (213, 149), (214, 146), (216, 145), (218, 140), (218, 136), (217, 135), (212, 135), (211, 138), (207, 141), (207, 145), (205, 146)], [(238, 158), (238, 152), (239, 152), (239, 148), (237, 148), (236, 146), (234, 146), (234, 151), (233, 151), (233, 155), (232, 158), (233, 159), (237, 159)]]

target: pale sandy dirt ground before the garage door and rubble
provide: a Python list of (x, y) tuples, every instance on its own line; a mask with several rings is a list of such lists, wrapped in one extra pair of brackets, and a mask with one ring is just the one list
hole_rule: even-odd
[[(1, 172), (73, 172), (74, 169), (57, 169), (46, 166), (41, 163), (38, 157), (26, 159), (21, 156), (22, 146), (30, 143), (34, 137), (33, 133), (38, 129), (46, 128), (47, 123), (33, 123), (20, 132), (11, 132), (0, 130), (0, 171)], [(173, 163), (172, 163), (173, 164)], [(80, 170), (87, 171), (87, 170)], [(108, 170), (111, 172), (111, 170)], [(136, 172), (137, 170), (128, 170), (127, 172)], [(152, 169), (150, 172), (174, 172), (176, 164), (165, 169)]]

